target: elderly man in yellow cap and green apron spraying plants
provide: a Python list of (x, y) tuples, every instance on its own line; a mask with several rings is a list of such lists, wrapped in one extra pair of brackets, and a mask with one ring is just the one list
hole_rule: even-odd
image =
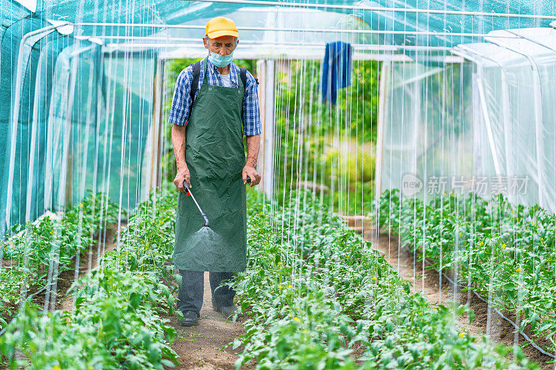
[[(211, 19), (203, 42), (208, 56), (181, 71), (170, 110), (174, 185), (179, 190), (173, 262), (182, 276), (177, 308), (183, 313), (183, 326), (197, 325), (204, 271), (210, 271), (213, 308), (226, 317), (237, 310), (236, 292), (222, 283), (245, 269), (245, 184), (248, 178), (251, 186), (261, 180), (256, 171), (261, 133), (258, 82), (232, 62), (239, 42), (236, 24), (225, 17)], [(202, 217), (184, 181), (210, 220), (210, 240), (199, 240)]]

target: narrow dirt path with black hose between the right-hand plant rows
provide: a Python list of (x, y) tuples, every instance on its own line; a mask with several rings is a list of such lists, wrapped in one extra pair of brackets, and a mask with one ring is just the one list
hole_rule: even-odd
[[(423, 272), (423, 262), (418, 261), (418, 255), (407, 248), (398, 249), (396, 237), (380, 234), (377, 238), (376, 230), (366, 230), (364, 235), (365, 239), (372, 243), (373, 248), (384, 253), (386, 261), (398, 270), (400, 276), (411, 283), (413, 291), (422, 292), (432, 305), (449, 302), (468, 303), (475, 312), (475, 320), (469, 323), (466, 317), (458, 319), (459, 327), (466, 333), (475, 336), (489, 333), (494, 342), (502, 342), (507, 346), (524, 344), (523, 337), (514, 334), (511, 324), (500, 319), (493, 310), (489, 312), (488, 305), (480, 301), (474, 294), (454, 289), (447, 279), (440, 278), (439, 274), (432, 269), (425, 269)], [(509, 315), (506, 316), (509, 317)], [(554, 364), (547, 363), (551, 360), (550, 357), (539, 353), (532, 346), (523, 348), (523, 353), (540, 364), (543, 370), (556, 369)]]

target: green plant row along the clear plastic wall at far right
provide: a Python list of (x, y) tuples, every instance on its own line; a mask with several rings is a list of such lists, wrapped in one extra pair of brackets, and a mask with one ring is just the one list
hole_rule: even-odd
[(429, 204), (382, 194), (379, 225), (432, 267), (508, 312), (543, 351), (556, 351), (556, 217), (502, 196), (438, 196)]

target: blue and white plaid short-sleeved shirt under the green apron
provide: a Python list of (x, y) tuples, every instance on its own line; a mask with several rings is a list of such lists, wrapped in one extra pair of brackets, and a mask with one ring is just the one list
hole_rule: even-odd
[[(199, 75), (199, 88), (195, 92), (195, 99), (199, 94), (199, 90), (203, 83), (204, 60), (201, 61), (201, 74)], [(222, 77), (218, 68), (210, 61), (206, 65), (208, 85), (224, 86)], [(230, 63), (230, 82), (232, 87), (239, 87), (238, 75), (240, 69), (234, 63)], [(174, 90), (174, 98), (172, 99), (172, 108), (170, 108), (170, 124), (186, 126), (191, 114), (191, 96), (189, 95), (191, 83), (193, 82), (193, 68), (186, 67), (180, 72), (176, 89)], [(247, 86), (245, 86), (245, 95), (243, 96), (243, 135), (254, 136), (262, 132), (261, 128), (261, 112), (259, 112), (259, 92), (257, 92), (257, 83), (255, 78), (247, 71)]]

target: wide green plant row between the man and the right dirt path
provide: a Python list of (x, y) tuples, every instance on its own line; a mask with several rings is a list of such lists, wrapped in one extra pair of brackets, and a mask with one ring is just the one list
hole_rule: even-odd
[[(236, 280), (250, 314), (236, 368), (537, 368), (521, 351), (457, 329), (464, 306), (431, 308), (360, 235), (312, 194), (271, 212), (250, 202), (248, 267)], [(507, 355), (514, 353), (514, 360)]]

